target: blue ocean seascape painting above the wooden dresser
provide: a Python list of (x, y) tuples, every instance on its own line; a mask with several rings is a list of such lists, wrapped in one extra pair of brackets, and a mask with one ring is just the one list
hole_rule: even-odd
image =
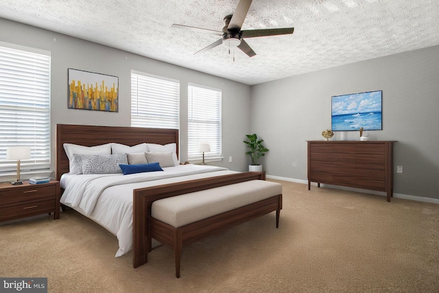
[(369, 91), (332, 97), (331, 130), (382, 130), (383, 91)]

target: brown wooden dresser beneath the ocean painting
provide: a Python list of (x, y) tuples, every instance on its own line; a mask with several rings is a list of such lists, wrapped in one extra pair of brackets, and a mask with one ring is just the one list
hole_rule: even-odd
[(308, 141), (311, 182), (393, 193), (395, 141)]

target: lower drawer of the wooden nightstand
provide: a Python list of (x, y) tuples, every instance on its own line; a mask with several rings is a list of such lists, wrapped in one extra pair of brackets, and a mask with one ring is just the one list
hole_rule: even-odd
[(51, 200), (34, 200), (0, 207), (0, 222), (11, 218), (26, 218), (41, 213), (54, 212), (55, 198)]

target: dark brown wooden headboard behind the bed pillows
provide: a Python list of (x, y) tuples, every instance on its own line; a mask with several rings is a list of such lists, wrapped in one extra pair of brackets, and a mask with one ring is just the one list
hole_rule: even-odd
[(141, 128), (118, 126), (89, 126), (57, 124), (56, 126), (56, 180), (69, 172), (69, 159), (64, 151), (64, 143), (93, 146), (104, 143), (176, 143), (178, 155), (178, 129)]

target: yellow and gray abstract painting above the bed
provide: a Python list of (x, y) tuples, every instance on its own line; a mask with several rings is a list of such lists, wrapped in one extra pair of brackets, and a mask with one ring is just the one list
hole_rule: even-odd
[(69, 68), (67, 82), (67, 108), (119, 112), (117, 76)]

